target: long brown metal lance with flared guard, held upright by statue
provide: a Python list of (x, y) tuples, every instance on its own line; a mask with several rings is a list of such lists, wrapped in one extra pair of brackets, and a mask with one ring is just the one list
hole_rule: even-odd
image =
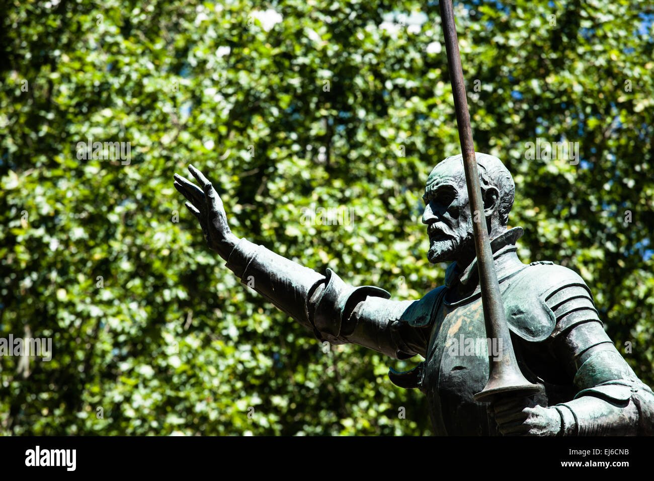
[(468, 99), (466, 98), (466, 86), (463, 82), (463, 71), (458, 50), (452, 0), (440, 0), (439, 4), (441, 25), (445, 36), (447, 63), (449, 65), (456, 109), (458, 138), (463, 154), (466, 185), (468, 186), (468, 197), (470, 198), (470, 213), (473, 219), (475, 251), (477, 253), (477, 266), (479, 268), (479, 285), (481, 287), (481, 302), (484, 311), (486, 334), (491, 340), (496, 339), (498, 346), (502, 346), (500, 355), (496, 357), (492, 357), (489, 349), (489, 382), (481, 392), (475, 394), (474, 399), (475, 401), (490, 401), (497, 395), (509, 392), (515, 395), (530, 395), (541, 391), (542, 386), (526, 380), (515, 359), (509, 326), (506, 322), (504, 304), (502, 303), (500, 284), (497, 280), (492, 251), (490, 249), (486, 216), (484, 215), (484, 205), (481, 198), (477, 159), (475, 158), (475, 149), (472, 143)]

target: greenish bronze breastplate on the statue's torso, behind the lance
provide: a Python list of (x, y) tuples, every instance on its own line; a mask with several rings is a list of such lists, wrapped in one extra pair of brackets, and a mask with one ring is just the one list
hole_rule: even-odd
[[(525, 357), (533, 358), (540, 343), (553, 332), (556, 319), (542, 300), (543, 294), (534, 289), (530, 281), (539, 279), (546, 291), (551, 290), (550, 283), (561, 283), (556, 276), (540, 277), (540, 268), (557, 266), (551, 266), (550, 262), (534, 262), (500, 279), (515, 357), (523, 375), (531, 382), (543, 381), (531, 372)], [(525, 296), (530, 298), (525, 299)], [(434, 312), (422, 373), (422, 388), (427, 395), (432, 424), (437, 431), (435, 434), (497, 435), (496, 423), (488, 416), (489, 403), (477, 402), (473, 396), (488, 381), (489, 349), (496, 355), (502, 351), (502, 346), (497, 345), (497, 340), (487, 339), (478, 291), (457, 302), (447, 302), (446, 298), (443, 296)], [(541, 308), (539, 304), (542, 304)], [(523, 356), (527, 344), (531, 351), (525, 351)], [(565, 387), (543, 383), (547, 393), (542, 395), (540, 404), (547, 406), (547, 397), (554, 395), (559, 398), (562, 395), (559, 391)], [(480, 423), (479, 419), (488, 419), (488, 422)]]

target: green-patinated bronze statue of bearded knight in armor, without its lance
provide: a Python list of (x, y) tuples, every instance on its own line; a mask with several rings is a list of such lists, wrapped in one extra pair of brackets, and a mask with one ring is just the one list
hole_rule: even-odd
[[(428, 399), (436, 435), (654, 435), (654, 393), (604, 332), (591, 291), (575, 272), (552, 262), (523, 264), (507, 230), (515, 185), (494, 156), (476, 154), (502, 301), (518, 365), (542, 394), (476, 402), (489, 378), (487, 343), (462, 156), (430, 173), (424, 213), (428, 260), (450, 262), (445, 285), (420, 300), (391, 300), (379, 287), (352, 287), (336, 272), (319, 274), (232, 234), (222, 201), (192, 166), (201, 188), (175, 175), (209, 247), (240, 279), (322, 341), (355, 343), (395, 359), (424, 362), (389, 373)], [(252, 276), (252, 277), (250, 277)], [(479, 340), (483, 342), (479, 343)], [(479, 348), (481, 346), (481, 348)], [(494, 354), (492, 352), (491, 354)]]

